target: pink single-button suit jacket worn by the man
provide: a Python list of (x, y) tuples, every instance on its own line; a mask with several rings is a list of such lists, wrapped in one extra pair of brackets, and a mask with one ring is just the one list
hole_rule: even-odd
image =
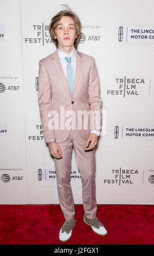
[[(85, 140), (87, 140), (91, 130), (101, 131), (102, 100), (94, 57), (76, 50), (76, 70), (72, 95), (57, 50), (41, 59), (39, 61), (38, 101), (46, 143), (52, 139), (56, 139), (57, 143), (65, 141), (73, 127), (74, 120), (76, 121), (75, 128)], [(60, 108), (63, 110), (61, 111)], [(82, 125), (78, 128), (78, 111), (84, 110), (86, 114), (82, 115)], [(69, 115), (71, 111), (75, 115)], [(83, 118), (88, 121), (86, 129)], [(96, 119), (99, 127), (95, 124)], [(90, 126), (91, 120), (95, 121), (94, 126)], [(61, 127), (60, 123), (62, 124)], [(67, 125), (69, 123), (70, 126), (63, 125), (64, 123)], [(51, 124), (55, 125), (54, 128)]]

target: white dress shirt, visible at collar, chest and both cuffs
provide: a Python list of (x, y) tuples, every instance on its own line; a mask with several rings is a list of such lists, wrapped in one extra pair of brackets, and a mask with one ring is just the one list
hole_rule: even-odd
[[(63, 71), (65, 72), (66, 78), (67, 78), (67, 60), (65, 59), (66, 56), (71, 57), (71, 65), (72, 65), (73, 73), (75, 76), (75, 69), (76, 69), (76, 49), (75, 49), (75, 47), (74, 47), (73, 51), (70, 52), (68, 55), (65, 52), (61, 51), (60, 48), (57, 48), (57, 52), (59, 54), (60, 62), (61, 62)], [(91, 133), (96, 133), (99, 136), (98, 131), (91, 130)], [(55, 141), (55, 139), (52, 139), (51, 141)]]

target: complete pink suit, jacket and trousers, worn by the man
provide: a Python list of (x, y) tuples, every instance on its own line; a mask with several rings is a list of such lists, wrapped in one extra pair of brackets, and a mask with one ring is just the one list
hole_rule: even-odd
[[(90, 131), (101, 131), (102, 122), (102, 100), (94, 57), (81, 53), (78, 50), (76, 51), (76, 70), (72, 95), (70, 94), (57, 50), (46, 58), (41, 59), (39, 62), (38, 101), (44, 139), (46, 142), (56, 139), (62, 151), (63, 158), (54, 158), (54, 163), (57, 191), (63, 215), (66, 220), (69, 218), (73, 219), (75, 215), (70, 186), (70, 160), (72, 148), (74, 148), (76, 166), (81, 174), (85, 215), (87, 218), (94, 218), (97, 213), (95, 198), (95, 148), (89, 151), (84, 150)], [(62, 112), (60, 109), (62, 109)], [(75, 115), (66, 114), (69, 114), (71, 111)], [(86, 111), (84, 117), (87, 124), (86, 129), (84, 128), (82, 118), (80, 119), (81, 125), (79, 125), (79, 111)], [(56, 118), (51, 122), (53, 113), (56, 113)], [(68, 126), (69, 120), (72, 121), (70, 121), (70, 126)], [(74, 121), (76, 126), (73, 126)], [(90, 126), (91, 121), (92, 127)], [(51, 124), (55, 125), (54, 129)], [(62, 125), (60, 126), (60, 124)], [(79, 129), (78, 125), (80, 126)]]

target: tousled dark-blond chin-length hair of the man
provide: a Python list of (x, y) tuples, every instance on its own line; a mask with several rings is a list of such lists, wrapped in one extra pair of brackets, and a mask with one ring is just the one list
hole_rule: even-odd
[(65, 5), (68, 8), (68, 10), (59, 11), (59, 13), (57, 13), (56, 15), (54, 15), (52, 17), (52, 20), (51, 20), (51, 22), (49, 24), (49, 34), (50, 34), (50, 37), (52, 38), (52, 41), (56, 45), (56, 48), (58, 48), (58, 41), (57, 41), (57, 39), (54, 38), (54, 36), (55, 36), (55, 29), (57, 27), (57, 23), (60, 21), (61, 17), (69, 16), (75, 22), (76, 38), (74, 40), (74, 47), (77, 48), (78, 47), (78, 42), (79, 42), (79, 39), (80, 39), (80, 35), (81, 35), (81, 22), (80, 22), (80, 19), (79, 19), (77, 14), (75, 14), (72, 10), (70, 10), (68, 5), (66, 5), (66, 4), (61, 4), (61, 5)]

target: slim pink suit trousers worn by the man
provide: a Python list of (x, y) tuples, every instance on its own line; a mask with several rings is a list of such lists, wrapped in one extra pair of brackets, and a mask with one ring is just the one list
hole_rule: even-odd
[(95, 148), (85, 151), (87, 139), (83, 139), (77, 130), (71, 130), (69, 137), (57, 143), (62, 152), (62, 159), (55, 159), (57, 191), (59, 203), (65, 220), (75, 215), (72, 188), (70, 186), (70, 168), (72, 149), (74, 148), (76, 166), (82, 181), (82, 202), (87, 218), (95, 218), (97, 202), (95, 194)]

